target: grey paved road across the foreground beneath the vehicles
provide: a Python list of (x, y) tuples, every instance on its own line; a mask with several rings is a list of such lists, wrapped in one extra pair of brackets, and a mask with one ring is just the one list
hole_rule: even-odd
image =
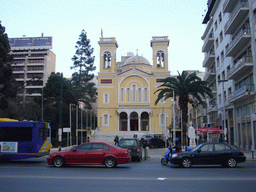
[[(256, 162), (235, 169), (161, 165), (161, 149), (152, 157), (108, 169), (103, 166), (55, 168), (46, 157), (0, 164), (0, 191), (255, 191)], [(155, 154), (155, 155), (153, 155)]]

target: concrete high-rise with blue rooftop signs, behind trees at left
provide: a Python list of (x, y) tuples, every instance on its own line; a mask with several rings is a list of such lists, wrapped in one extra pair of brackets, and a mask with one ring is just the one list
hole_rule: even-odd
[(19, 94), (25, 97), (41, 96), (48, 77), (55, 72), (56, 55), (51, 51), (52, 37), (9, 38), (10, 54), (16, 81), (24, 86)]

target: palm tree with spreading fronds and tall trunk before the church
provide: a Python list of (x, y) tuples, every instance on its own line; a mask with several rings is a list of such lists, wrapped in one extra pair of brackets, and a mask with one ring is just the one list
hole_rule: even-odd
[(183, 132), (183, 144), (186, 144), (186, 131), (188, 123), (188, 103), (192, 101), (192, 98), (196, 98), (199, 103), (203, 103), (202, 98), (206, 95), (212, 97), (212, 91), (207, 87), (207, 82), (202, 81), (200, 77), (195, 73), (188, 74), (183, 71), (182, 74), (178, 72), (177, 77), (167, 77), (162, 85), (155, 91), (158, 92), (158, 98), (155, 101), (155, 105), (162, 99), (164, 100), (173, 97), (179, 97), (179, 106), (182, 110), (182, 132)]

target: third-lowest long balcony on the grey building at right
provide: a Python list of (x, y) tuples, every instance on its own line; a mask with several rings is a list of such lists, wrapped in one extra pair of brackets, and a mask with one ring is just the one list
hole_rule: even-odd
[(251, 40), (251, 31), (249, 28), (241, 29), (233, 40), (226, 46), (226, 57), (235, 56)]

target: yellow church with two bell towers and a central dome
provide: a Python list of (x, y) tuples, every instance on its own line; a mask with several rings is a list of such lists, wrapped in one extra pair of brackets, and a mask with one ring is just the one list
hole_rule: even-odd
[(135, 133), (161, 134), (169, 137), (171, 101), (157, 93), (168, 71), (167, 36), (152, 37), (152, 64), (143, 56), (127, 53), (117, 62), (115, 38), (100, 38), (100, 72), (98, 73), (98, 129), (94, 139), (112, 142), (116, 135), (132, 137)]

